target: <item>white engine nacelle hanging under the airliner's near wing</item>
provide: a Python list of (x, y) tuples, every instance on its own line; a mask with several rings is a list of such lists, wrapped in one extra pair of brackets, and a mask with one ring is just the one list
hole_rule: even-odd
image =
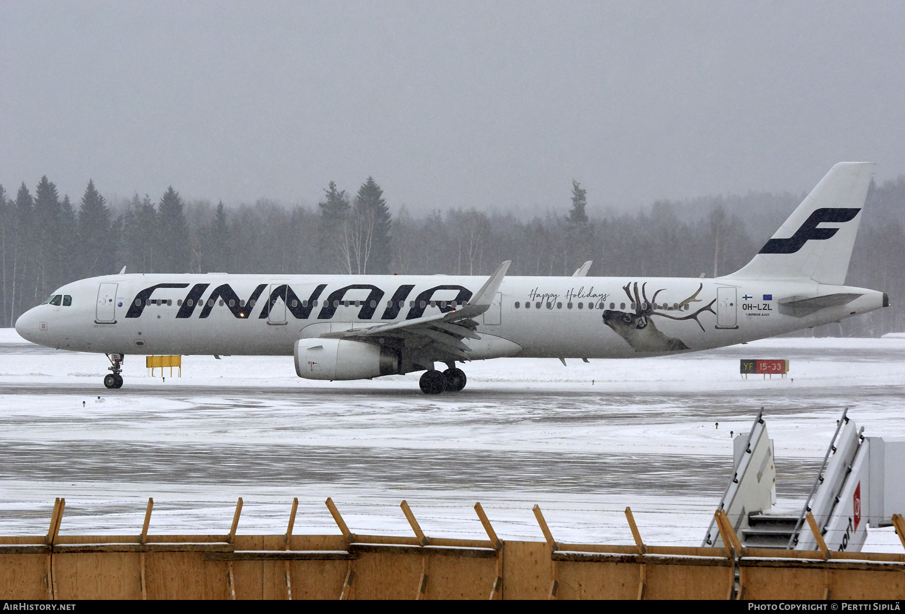
[(307, 380), (366, 380), (400, 372), (399, 353), (348, 339), (299, 339), (295, 373)]

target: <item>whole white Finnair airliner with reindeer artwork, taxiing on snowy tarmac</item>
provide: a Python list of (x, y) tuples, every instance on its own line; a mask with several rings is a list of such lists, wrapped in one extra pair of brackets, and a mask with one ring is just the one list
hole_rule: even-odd
[[(887, 307), (844, 286), (872, 164), (830, 170), (743, 269), (716, 279), (119, 274), (56, 290), (15, 323), (57, 349), (107, 354), (293, 354), (314, 380), (424, 371), (458, 392), (456, 362), (631, 358), (707, 350)], [(125, 269), (124, 269), (125, 270)], [(445, 371), (435, 364), (447, 366)]]

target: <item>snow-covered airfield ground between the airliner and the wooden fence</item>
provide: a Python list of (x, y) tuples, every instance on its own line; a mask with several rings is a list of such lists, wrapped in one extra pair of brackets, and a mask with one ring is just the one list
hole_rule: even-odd
[[(738, 374), (740, 358), (786, 358), (786, 379)], [(291, 356), (184, 356), (151, 377), (129, 356), (103, 388), (103, 355), (54, 351), (0, 329), (0, 534), (335, 532), (333, 497), (358, 533), (497, 532), (540, 540), (538, 503), (562, 542), (700, 543), (731, 469), (730, 431), (764, 407), (779, 506), (804, 499), (843, 407), (865, 434), (905, 436), (905, 338), (770, 339), (634, 360), (467, 364), (468, 387), (428, 397), (418, 374), (353, 383), (295, 376)], [(719, 421), (719, 429), (715, 423)], [(905, 486), (903, 486), (905, 487)], [(795, 509), (797, 511), (797, 509)], [(865, 550), (900, 552), (891, 529)]]

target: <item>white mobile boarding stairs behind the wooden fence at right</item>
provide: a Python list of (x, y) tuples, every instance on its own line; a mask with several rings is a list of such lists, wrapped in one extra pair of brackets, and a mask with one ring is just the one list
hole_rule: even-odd
[[(905, 513), (905, 438), (864, 437), (863, 430), (846, 408), (801, 511), (774, 513), (773, 439), (761, 408), (751, 430), (734, 440), (732, 477), (717, 508), (741, 545), (817, 550), (811, 515), (829, 550), (860, 552), (868, 526), (890, 526), (892, 515)], [(722, 546), (715, 520), (702, 545)]]

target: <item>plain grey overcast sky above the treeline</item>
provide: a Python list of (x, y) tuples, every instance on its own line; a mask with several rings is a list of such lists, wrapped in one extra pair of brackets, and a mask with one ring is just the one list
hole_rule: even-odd
[(561, 209), (905, 173), (905, 3), (0, 0), (0, 183)]

